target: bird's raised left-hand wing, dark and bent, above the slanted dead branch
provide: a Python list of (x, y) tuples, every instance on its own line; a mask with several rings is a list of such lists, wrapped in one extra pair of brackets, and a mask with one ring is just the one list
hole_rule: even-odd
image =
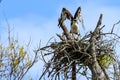
[(63, 8), (62, 12), (61, 12), (61, 16), (58, 19), (58, 21), (59, 21), (58, 26), (60, 26), (66, 19), (71, 21), (71, 20), (73, 20), (73, 16), (69, 12), (69, 10), (67, 10), (66, 8)]

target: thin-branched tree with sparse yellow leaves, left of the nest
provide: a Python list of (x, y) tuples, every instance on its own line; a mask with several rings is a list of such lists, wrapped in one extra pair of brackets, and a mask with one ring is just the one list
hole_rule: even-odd
[(18, 40), (10, 36), (8, 29), (8, 44), (0, 44), (0, 79), (22, 80), (29, 69), (38, 60), (35, 52), (34, 58), (30, 57), (29, 45), (20, 45)]

